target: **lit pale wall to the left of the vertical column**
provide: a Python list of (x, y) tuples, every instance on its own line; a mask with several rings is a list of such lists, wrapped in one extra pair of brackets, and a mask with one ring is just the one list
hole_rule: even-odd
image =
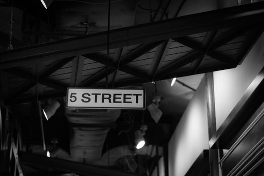
[(202, 79), (168, 143), (169, 175), (184, 176), (193, 162), (208, 149), (205, 78)]

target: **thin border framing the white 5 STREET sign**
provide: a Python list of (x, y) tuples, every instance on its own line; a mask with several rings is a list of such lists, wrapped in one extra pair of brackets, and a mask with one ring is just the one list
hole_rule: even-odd
[[(107, 90), (143, 90), (143, 108), (112, 108), (112, 107), (91, 107), (91, 108), (86, 108), (86, 107), (69, 107), (68, 106), (68, 92), (69, 89), (107, 89)], [(146, 94), (145, 94), (145, 89), (121, 89), (121, 88), (91, 88), (91, 87), (67, 87), (67, 92), (66, 92), (66, 105), (65, 108), (69, 109), (134, 109), (134, 110), (145, 110), (146, 109)]]

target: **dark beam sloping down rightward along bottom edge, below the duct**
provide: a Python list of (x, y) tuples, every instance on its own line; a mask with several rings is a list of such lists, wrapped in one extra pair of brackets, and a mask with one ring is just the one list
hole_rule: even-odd
[(140, 174), (132, 172), (124, 172), (120, 170), (108, 169), (99, 166), (84, 164), (80, 162), (74, 162), (59, 158), (46, 157), (44, 155), (37, 155), (32, 153), (21, 152), (19, 154), (19, 160), (23, 164), (31, 166), (41, 166), (46, 169), (54, 169), (58, 171), (65, 171), (69, 173), (76, 173), (80, 175), (91, 176), (138, 176)]

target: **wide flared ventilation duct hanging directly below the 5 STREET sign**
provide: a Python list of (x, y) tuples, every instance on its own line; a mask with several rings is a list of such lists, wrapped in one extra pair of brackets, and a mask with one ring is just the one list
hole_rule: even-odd
[(121, 110), (66, 109), (72, 127), (70, 155), (72, 160), (93, 164), (100, 160), (108, 131)]

